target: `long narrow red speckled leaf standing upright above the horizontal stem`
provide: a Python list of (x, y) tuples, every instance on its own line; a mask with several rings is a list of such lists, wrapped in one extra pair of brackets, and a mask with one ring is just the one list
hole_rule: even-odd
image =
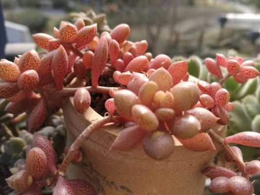
[(108, 44), (105, 38), (101, 38), (95, 50), (91, 65), (91, 82), (93, 87), (99, 85), (99, 77), (106, 65), (108, 59)]

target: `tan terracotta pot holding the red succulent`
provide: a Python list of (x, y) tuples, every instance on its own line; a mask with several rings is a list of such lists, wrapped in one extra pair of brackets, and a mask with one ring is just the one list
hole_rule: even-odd
[[(67, 145), (94, 120), (101, 118), (92, 108), (84, 115), (74, 111), (73, 98), (63, 106), (68, 129)], [(90, 181), (99, 195), (202, 195), (205, 177), (200, 170), (210, 164), (215, 152), (193, 152), (176, 141), (174, 154), (157, 161), (140, 145), (130, 152), (109, 151), (121, 128), (113, 124), (95, 131), (81, 147), (84, 161), (70, 165), (69, 179)], [(226, 126), (218, 130), (225, 135)]]

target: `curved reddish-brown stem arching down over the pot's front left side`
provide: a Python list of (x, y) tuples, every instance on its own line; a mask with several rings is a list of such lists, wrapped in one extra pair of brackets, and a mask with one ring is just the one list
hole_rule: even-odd
[(94, 121), (90, 124), (84, 131), (81, 132), (80, 136), (73, 142), (71, 145), (67, 155), (65, 156), (64, 160), (62, 161), (60, 168), (59, 168), (59, 175), (65, 176), (65, 172), (69, 163), (73, 160), (75, 154), (80, 149), (80, 146), (88, 139), (88, 137), (97, 129), (101, 128), (103, 125), (113, 122), (113, 117), (103, 117), (102, 119)]

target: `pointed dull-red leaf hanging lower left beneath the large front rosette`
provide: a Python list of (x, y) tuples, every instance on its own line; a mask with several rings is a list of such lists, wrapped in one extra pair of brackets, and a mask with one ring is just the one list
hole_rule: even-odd
[(140, 129), (139, 126), (131, 126), (123, 129), (120, 132), (120, 135), (114, 140), (113, 144), (110, 147), (110, 150), (118, 151), (129, 151), (134, 149), (146, 133)]

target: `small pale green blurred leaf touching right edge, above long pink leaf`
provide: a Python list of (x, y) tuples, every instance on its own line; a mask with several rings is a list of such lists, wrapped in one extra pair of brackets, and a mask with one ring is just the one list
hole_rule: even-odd
[(260, 114), (260, 104), (255, 96), (248, 95), (242, 99), (242, 102), (245, 105), (249, 117), (253, 119), (256, 115)]

